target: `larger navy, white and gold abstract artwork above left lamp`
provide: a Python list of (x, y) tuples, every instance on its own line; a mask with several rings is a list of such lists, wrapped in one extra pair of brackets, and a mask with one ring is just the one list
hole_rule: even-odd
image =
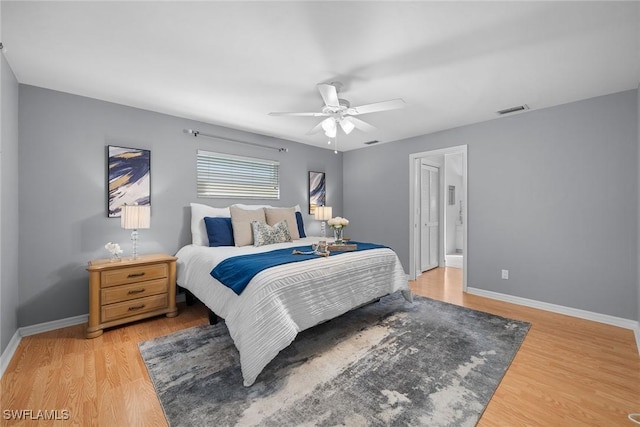
[(109, 217), (122, 205), (151, 204), (151, 151), (108, 146)]

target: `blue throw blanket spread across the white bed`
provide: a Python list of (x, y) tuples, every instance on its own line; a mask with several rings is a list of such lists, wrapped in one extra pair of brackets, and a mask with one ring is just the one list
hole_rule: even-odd
[[(376, 243), (350, 243), (357, 244), (358, 251), (386, 247), (383, 245), (378, 245)], [(297, 246), (295, 248), (275, 249), (273, 251), (261, 252), (257, 254), (238, 255), (222, 261), (213, 270), (211, 270), (211, 275), (214, 279), (230, 288), (237, 295), (240, 295), (244, 288), (247, 287), (251, 279), (253, 279), (253, 277), (256, 274), (260, 273), (262, 270), (266, 270), (267, 268), (275, 267), (277, 265), (318, 258), (318, 255), (313, 254), (294, 255), (292, 253), (294, 250), (309, 252), (313, 249), (311, 248), (311, 246)], [(329, 256), (335, 256), (349, 252), (353, 251), (334, 251), (331, 252)]]

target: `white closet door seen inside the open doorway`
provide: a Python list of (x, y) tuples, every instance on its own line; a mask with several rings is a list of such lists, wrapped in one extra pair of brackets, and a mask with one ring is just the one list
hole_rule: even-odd
[(434, 166), (420, 167), (420, 270), (438, 266), (438, 214), (440, 212), (438, 176)]

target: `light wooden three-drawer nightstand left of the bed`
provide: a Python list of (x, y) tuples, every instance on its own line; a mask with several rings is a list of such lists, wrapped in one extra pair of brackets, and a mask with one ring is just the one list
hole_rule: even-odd
[(176, 260), (155, 254), (135, 260), (89, 261), (87, 338), (99, 337), (105, 328), (151, 316), (177, 316)]

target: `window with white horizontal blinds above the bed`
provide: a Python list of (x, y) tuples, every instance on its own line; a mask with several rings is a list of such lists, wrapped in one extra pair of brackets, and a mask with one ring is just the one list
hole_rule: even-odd
[(198, 150), (198, 197), (279, 199), (279, 168), (276, 160)]

